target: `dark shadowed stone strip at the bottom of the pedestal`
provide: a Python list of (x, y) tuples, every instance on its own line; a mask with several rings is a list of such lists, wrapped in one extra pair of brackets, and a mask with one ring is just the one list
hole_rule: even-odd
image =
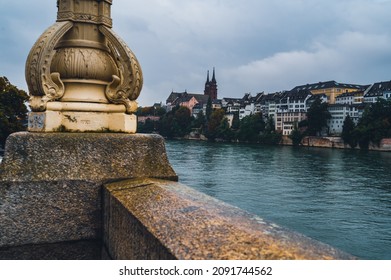
[(0, 260), (100, 260), (100, 240), (0, 248)]

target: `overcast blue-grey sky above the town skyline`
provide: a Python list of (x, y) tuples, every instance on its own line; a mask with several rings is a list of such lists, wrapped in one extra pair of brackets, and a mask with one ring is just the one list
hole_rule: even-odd
[[(0, 0), (0, 76), (27, 89), (24, 65), (56, 20), (56, 0)], [(114, 31), (144, 73), (142, 106), (172, 90), (219, 98), (336, 80), (391, 80), (391, 0), (114, 0)]]

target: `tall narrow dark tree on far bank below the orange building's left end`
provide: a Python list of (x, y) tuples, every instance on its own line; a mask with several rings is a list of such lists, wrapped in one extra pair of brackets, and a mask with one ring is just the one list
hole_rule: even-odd
[(327, 120), (331, 118), (327, 103), (322, 102), (319, 96), (307, 111), (307, 134), (320, 136), (322, 130), (327, 127)]

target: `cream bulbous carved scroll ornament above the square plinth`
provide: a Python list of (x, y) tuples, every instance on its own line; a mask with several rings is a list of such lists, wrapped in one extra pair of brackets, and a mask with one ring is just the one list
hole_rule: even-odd
[[(137, 110), (143, 75), (136, 56), (111, 29), (111, 5), (112, 0), (57, 1), (57, 22), (26, 62), (33, 112), (63, 101), (121, 104), (127, 114)], [(100, 87), (96, 97), (82, 96)]]

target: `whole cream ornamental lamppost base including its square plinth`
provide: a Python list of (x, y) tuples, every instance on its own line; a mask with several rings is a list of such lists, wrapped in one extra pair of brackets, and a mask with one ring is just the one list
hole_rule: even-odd
[(58, 0), (26, 62), (29, 131), (136, 132), (140, 64), (112, 27), (112, 0)]

